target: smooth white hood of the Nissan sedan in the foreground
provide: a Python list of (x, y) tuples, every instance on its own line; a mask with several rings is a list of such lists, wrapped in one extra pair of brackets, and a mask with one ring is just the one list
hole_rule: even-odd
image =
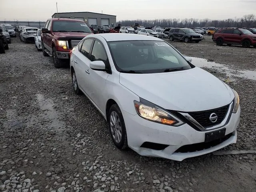
[(219, 108), (234, 99), (230, 87), (198, 67), (156, 74), (120, 73), (119, 82), (140, 98), (181, 112)]

